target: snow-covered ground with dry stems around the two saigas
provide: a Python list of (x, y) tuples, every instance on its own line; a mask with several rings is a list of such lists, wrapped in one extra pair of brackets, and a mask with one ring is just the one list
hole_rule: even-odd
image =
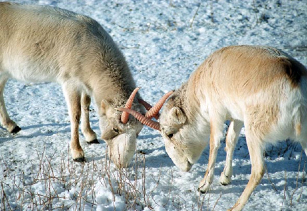
[[(211, 52), (227, 45), (270, 45), (307, 65), (306, 0), (17, 2), (58, 6), (97, 20), (119, 44), (150, 103), (178, 88)], [(102, 140), (88, 145), (84, 138), (87, 163), (74, 163), (59, 85), (10, 80), (5, 101), (22, 131), (13, 136), (0, 128), (0, 210), (226, 210), (250, 176), (244, 129), (234, 153), (232, 184), (219, 183), (226, 156), (222, 141), (211, 191), (199, 194), (208, 148), (191, 171), (182, 172), (159, 133), (144, 127), (131, 167), (117, 170)], [(90, 116), (100, 134), (95, 105)], [(269, 146), (267, 172), (245, 210), (307, 210), (306, 161), (300, 145)]]

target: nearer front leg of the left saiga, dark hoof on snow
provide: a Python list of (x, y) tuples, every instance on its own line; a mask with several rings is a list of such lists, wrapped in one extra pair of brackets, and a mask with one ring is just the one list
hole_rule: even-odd
[(68, 105), (70, 126), (71, 126), (71, 141), (70, 149), (72, 159), (77, 162), (84, 162), (84, 152), (79, 142), (79, 122), (81, 116), (81, 93), (78, 89), (66, 82), (63, 85), (64, 96)]

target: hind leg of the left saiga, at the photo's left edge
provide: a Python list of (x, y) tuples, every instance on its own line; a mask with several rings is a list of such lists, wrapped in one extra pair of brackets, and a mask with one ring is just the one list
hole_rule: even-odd
[(10, 119), (3, 98), (4, 87), (6, 84), (7, 78), (0, 79), (0, 121), (3, 127), (5, 127), (11, 133), (17, 133), (21, 130), (20, 127), (16, 125), (16, 123)]

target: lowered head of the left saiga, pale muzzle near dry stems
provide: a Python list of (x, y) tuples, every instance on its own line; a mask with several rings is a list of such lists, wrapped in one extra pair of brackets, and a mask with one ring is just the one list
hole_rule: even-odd
[[(133, 103), (138, 89), (139, 87), (131, 94), (125, 108), (133, 108), (143, 113), (141, 105)], [(117, 105), (107, 100), (102, 100), (100, 106), (99, 128), (102, 133), (101, 138), (108, 146), (109, 157), (117, 167), (127, 167), (134, 155), (136, 138), (143, 125), (134, 117), (129, 118), (129, 113), (119, 111)]]

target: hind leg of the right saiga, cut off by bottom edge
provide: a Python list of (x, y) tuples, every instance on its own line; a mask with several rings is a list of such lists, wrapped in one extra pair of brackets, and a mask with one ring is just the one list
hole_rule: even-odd
[(262, 140), (253, 134), (248, 128), (245, 128), (245, 136), (248, 147), (248, 152), (251, 159), (251, 177), (241, 194), (239, 200), (230, 210), (242, 210), (253, 190), (260, 183), (264, 175), (264, 161)]

